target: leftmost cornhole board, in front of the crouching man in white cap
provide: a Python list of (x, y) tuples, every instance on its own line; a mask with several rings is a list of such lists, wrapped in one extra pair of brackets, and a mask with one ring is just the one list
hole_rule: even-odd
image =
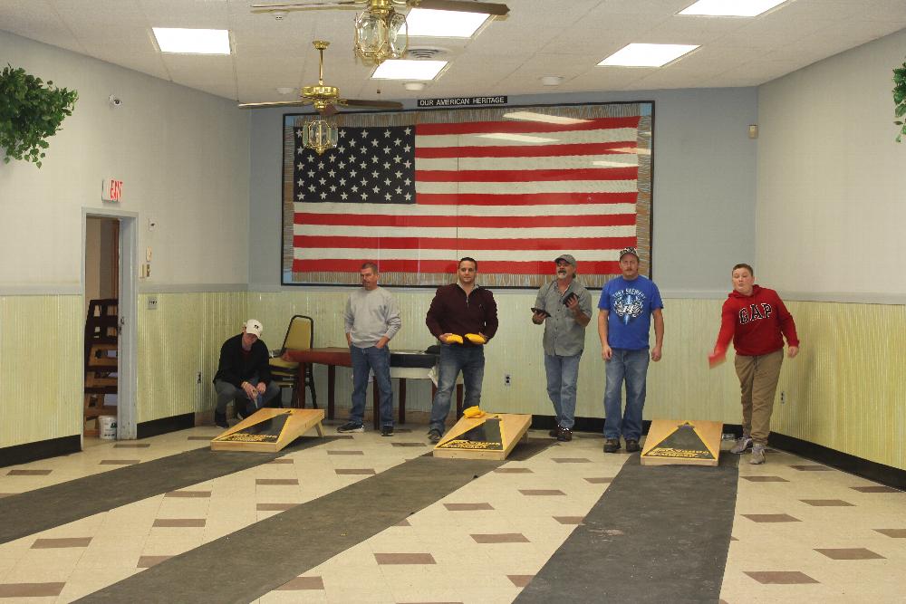
[(258, 409), (211, 440), (212, 451), (276, 453), (313, 427), (324, 436), (323, 409)]

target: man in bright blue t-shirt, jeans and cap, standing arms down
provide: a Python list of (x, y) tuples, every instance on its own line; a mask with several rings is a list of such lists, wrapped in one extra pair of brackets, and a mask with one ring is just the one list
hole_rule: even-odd
[[(634, 247), (620, 251), (622, 277), (607, 282), (598, 302), (598, 335), (606, 368), (604, 387), (604, 453), (620, 450), (620, 435), (626, 451), (639, 450), (641, 410), (645, 407), (648, 375), (648, 334), (654, 317), (654, 348), (651, 360), (660, 360), (664, 343), (664, 316), (658, 286), (639, 274), (639, 254)], [(626, 382), (626, 412), (622, 413), (622, 384)]]

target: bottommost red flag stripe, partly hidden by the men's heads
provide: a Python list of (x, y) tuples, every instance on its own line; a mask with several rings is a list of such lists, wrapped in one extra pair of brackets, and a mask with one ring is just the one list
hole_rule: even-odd
[[(548, 274), (552, 273), (551, 264), (547, 261), (537, 262), (508, 262), (495, 260), (482, 260), (478, 258), (481, 273), (492, 274)], [(376, 260), (378, 271), (381, 273), (449, 273), (450, 283), (456, 279), (456, 260)], [(323, 260), (294, 260), (294, 273), (358, 273), (361, 260), (341, 260), (324, 258)], [(614, 274), (620, 273), (620, 263), (616, 261), (581, 262), (579, 264), (583, 274)], [(481, 283), (481, 273), (478, 273), (477, 282)]]

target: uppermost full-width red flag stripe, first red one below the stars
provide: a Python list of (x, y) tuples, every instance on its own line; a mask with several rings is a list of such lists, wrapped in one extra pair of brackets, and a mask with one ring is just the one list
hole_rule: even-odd
[(423, 226), (428, 228), (469, 226), (473, 228), (531, 228), (552, 226), (635, 225), (634, 214), (602, 216), (387, 216), (379, 214), (296, 213), (296, 225), (333, 226)]

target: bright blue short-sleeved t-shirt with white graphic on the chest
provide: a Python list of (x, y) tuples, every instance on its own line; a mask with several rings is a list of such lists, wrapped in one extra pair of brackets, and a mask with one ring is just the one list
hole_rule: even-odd
[(598, 308), (607, 311), (607, 343), (626, 350), (648, 348), (651, 312), (663, 307), (658, 286), (647, 277), (607, 282), (598, 302)]

